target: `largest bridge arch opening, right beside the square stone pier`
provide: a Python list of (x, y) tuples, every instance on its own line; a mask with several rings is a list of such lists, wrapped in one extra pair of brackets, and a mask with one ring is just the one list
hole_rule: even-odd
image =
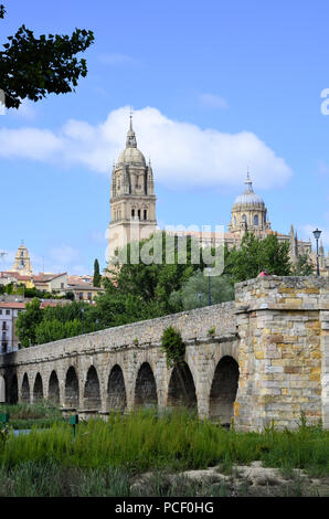
[(230, 426), (238, 384), (238, 364), (233, 357), (223, 357), (216, 366), (209, 398), (209, 417)]

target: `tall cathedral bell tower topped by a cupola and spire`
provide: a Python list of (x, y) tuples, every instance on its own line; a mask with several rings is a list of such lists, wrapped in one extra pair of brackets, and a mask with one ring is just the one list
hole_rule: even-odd
[(157, 229), (153, 172), (150, 161), (146, 165), (137, 148), (131, 115), (126, 149), (113, 166), (109, 201), (107, 257), (110, 264), (117, 248), (147, 239)]

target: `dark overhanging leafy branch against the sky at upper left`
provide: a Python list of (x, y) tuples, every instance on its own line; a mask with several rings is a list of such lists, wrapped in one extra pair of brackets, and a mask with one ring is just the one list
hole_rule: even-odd
[[(4, 18), (0, 6), (0, 18)], [(94, 42), (94, 33), (75, 29), (71, 36), (42, 34), (22, 25), (8, 36), (0, 52), (0, 88), (6, 94), (7, 108), (19, 108), (21, 100), (38, 102), (47, 94), (74, 92), (79, 76), (87, 75), (86, 61), (76, 54), (86, 51)]]

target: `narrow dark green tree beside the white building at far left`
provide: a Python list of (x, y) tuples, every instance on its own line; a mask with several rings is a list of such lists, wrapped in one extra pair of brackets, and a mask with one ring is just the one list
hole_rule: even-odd
[(26, 303), (25, 311), (20, 311), (15, 324), (15, 332), (24, 348), (36, 345), (35, 330), (42, 321), (42, 317), (43, 310), (40, 308), (40, 299), (38, 298)]

